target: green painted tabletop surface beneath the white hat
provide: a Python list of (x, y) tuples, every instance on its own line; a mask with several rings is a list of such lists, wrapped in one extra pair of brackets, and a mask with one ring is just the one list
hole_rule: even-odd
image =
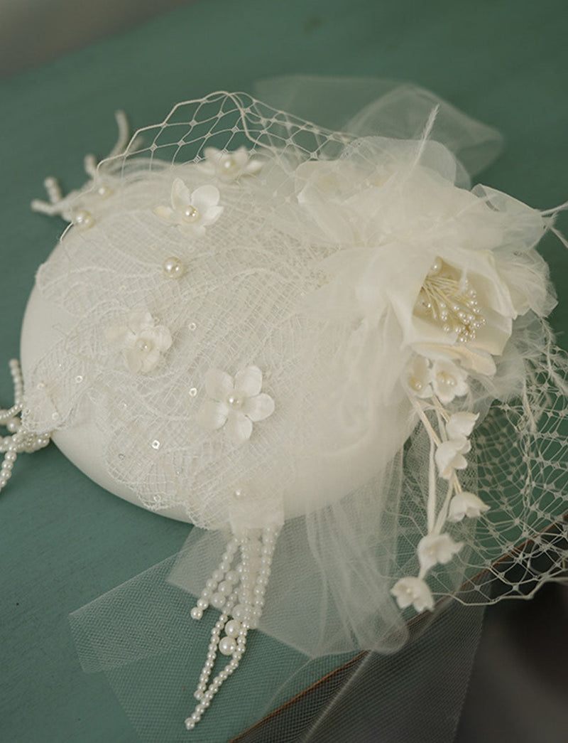
[[(552, 207), (568, 198), (567, 18), (564, 0), (202, 1), (3, 82), (1, 402), (11, 401), (7, 360), (18, 355), (33, 275), (62, 231), (28, 204), (43, 196), (45, 175), (83, 183), (83, 156), (113, 144), (116, 108), (137, 127), (179, 100), (250, 90), (269, 75), (412, 80), (505, 134), (483, 182)], [(564, 300), (553, 316), (563, 332), (567, 256), (552, 239), (543, 252)], [(187, 527), (103, 492), (50, 447), (19, 459), (0, 529), (0, 740), (135, 741), (105, 678), (80, 669), (67, 615), (173, 554)]]

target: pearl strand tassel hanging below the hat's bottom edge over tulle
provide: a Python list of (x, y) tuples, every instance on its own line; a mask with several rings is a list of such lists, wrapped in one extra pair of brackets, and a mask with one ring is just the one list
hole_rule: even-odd
[[(245, 536), (231, 539), (219, 568), (213, 572), (197, 600), (197, 605), (191, 609), (191, 617), (199, 620), (211, 600), (211, 605), (222, 609), (222, 614), (211, 630), (207, 660), (194, 693), (198, 704), (191, 716), (184, 721), (186, 730), (194, 729), (223, 681), (237, 669), (245, 653), (248, 631), (258, 626), (279, 533), (279, 528), (267, 526), (262, 531), (251, 531)], [(233, 571), (231, 565), (239, 549), (241, 562)], [(225, 632), (224, 637), (221, 637), (222, 632)], [(231, 660), (210, 683), (217, 652), (231, 656)]]

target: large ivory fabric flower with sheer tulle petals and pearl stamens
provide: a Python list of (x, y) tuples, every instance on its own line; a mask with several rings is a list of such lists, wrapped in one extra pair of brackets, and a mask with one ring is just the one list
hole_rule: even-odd
[(545, 222), (503, 194), (456, 186), (456, 172), (435, 142), (381, 137), (300, 166), (297, 201), (340, 247), (310, 306), (375, 327), (395, 317), (403, 348), (492, 375), (515, 317), (552, 307), (533, 247)]

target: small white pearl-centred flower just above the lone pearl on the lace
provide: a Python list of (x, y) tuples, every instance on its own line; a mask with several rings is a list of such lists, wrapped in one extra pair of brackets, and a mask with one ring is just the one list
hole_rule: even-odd
[(170, 224), (175, 224), (184, 235), (202, 237), (205, 228), (219, 219), (223, 207), (216, 186), (198, 186), (190, 191), (181, 178), (171, 186), (171, 207), (154, 207), (153, 213)]

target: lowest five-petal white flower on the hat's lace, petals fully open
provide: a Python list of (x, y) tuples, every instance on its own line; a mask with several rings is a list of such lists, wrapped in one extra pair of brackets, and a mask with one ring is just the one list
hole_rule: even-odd
[(262, 389), (262, 371), (247, 366), (233, 380), (220, 369), (211, 369), (205, 375), (205, 400), (197, 421), (208, 429), (226, 426), (229, 437), (242, 444), (251, 438), (252, 424), (263, 421), (274, 412), (274, 400)]

